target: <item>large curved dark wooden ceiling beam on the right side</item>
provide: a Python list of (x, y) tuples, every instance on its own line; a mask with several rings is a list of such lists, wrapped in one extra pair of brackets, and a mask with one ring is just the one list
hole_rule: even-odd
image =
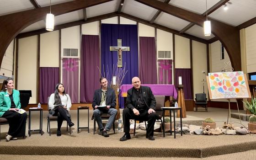
[[(203, 27), (205, 17), (198, 15), (191, 11), (184, 10), (174, 5), (165, 4), (158, 0), (135, 0), (144, 5), (148, 5), (157, 10), (176, 16), (185, 21), (190, 21)], [(223, 22), (213, 20), (211, 21), (212, 33), (219, 38), (220, 42), (224, 45), (227, 53), (229, 54), (230, 62), (235, 71), (241, 70), (241, 52), (240, 52), (240, 30), (236, 27), (227, 25)]]

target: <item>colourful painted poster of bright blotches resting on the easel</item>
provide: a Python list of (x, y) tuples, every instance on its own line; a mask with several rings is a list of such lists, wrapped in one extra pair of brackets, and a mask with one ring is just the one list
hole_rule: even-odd
[(248, 81), (242, 71), (208, 73), (210, 99), (250, 98)]

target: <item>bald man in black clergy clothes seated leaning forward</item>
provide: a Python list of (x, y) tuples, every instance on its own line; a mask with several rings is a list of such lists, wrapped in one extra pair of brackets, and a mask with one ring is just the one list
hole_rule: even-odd
[(123, 109), (123, 132), (120, 141), (131, 139), (130, 119), (148, 121), (146, 138), (155, 140), (154, 124), (158, 115), (155, 113), (155, 96), (150, 87), (141, 86), (139, 77), (133, 77), (133, 88), (127, 91), (126, 108)]

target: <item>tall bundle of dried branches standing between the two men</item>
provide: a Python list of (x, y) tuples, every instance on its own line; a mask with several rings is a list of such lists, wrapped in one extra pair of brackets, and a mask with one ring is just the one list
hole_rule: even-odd
[[(99, 69), (99, 67), (98, 67)], [(103, 64), (103, 75), (101, 74), (101, 77), (106, 77), (108, 80), (108, 85), (109, 87), (111, 87), (115, 93), (116, 93), (116, 100), (117, 100), (117, 116), (116, 116), (116, 120), (120, 118), (120, 111), (119, 111), (119, 103), (118, 103), (118, 95), (119, 95), (119, 91), (120, 91), (120, 87), (122, 85), (122, 81), (125, 77), (125, 75), (127, 74), (128, 70), (126, 70), (126, 65), (124, 63), (124, 67), (117, 67), (117, 64), (113, 65), (113, 69), (112, 69), (112, 75), (110, 75), (108, 66), (107, 69), (105, 70), (105, 66)], [(100, 69), (99, 69), (100, 71)], [(106, 73), (105, 73), (106, 72)], [(100, 71), (101, 73), (101, 71)]]

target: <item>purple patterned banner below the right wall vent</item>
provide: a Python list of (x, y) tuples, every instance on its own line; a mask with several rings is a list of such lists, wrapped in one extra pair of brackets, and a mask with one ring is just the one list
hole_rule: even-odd
[(158, 84), (172, 84), (172, 60), (158, 60)]

